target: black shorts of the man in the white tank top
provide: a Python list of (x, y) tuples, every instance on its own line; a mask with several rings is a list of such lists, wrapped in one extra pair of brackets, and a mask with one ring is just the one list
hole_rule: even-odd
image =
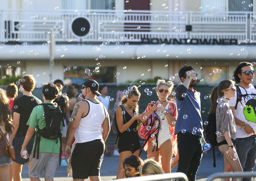
[(103, 139), (76, 143), (71, 158), (73, 179), (99, 176), (104, 150), (105, 143)]

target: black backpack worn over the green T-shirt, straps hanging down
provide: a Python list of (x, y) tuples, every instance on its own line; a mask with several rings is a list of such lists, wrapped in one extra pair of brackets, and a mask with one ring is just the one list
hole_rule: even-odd
[[(39, 158), (39, 147), (40, 147), (40, 139), (41, 136), (46, 139), (56, 139), (56, 143), (58, 143), (58, 138), (60, 138), (60, 161), (61, 161), (61, 136), (62, 133), (60, 132), (61, 123), (64, 125), (64, 113), (61, 112), (60, 106), (54, 107), (53, 104), (50, 103), (42, 103), (38, 106), (44, 106), (44, 118), (46, 122), (46, 127), (43, 129), (39, 129), (37, 125), (36, 131), (36, 143), (34, 148), (33, 158), (36, 156), (36, 159)], [(50, 106), (48, 106), (50, 105)], [(53, 107), (52, 107), (53, 106)], [(36, 155), (37, 149), (37, 155)]]

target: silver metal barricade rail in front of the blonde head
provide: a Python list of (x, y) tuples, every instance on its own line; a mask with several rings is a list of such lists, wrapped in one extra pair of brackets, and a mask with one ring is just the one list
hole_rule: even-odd
[(167, 181), (175, 179), (175, 181), (188, 181), (188, 177), (184, 173), (164, 173), (158, 175), (147, 175), (144, 177), (131, 177), (128, 179), (118, 179), (118, 181)]

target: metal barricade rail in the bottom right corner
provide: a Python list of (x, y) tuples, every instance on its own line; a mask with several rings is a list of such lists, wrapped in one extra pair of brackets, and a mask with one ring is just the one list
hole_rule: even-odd
[(252, 178), (252, 180), (254, 181), (256, 178), (256, 173), (252, 173), (252, 172), (231, 172), (231, 173), (223, 173), (223, 172), (219, 172), (219, 173), (213, 173), (212, 175), (210, 175), (209, 177), (207, 177), (207, 179), (205, 181), (212, 181), (214, 179), (224, 179), (224, 178), (236, 178), (237, 181), (239, 181), (240, 178)]

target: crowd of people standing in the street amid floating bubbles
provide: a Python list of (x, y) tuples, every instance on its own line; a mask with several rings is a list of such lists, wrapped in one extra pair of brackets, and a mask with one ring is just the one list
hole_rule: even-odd
[[(172, 81), (158, 80), (158, 100), (148, 103), (144, 112), (139, 111), (141, 93), (137, 86), (129, 87), (126, 92), (118, 91), (111, 110), (107, 86), (99, 86), (95, 80), (84, 82), (81, 95), (78, 85), (68, 86), (66, 93), (62, 93), (61, 80), (44, 84), (44, 103), (50, 108), (58, 105), (64, 113), (60, 126), (62, 138), (56, 141), (41, 137), (40, 147), (38, 143), (36, 149), (38, 130), (46, 127), (46, 116), (42, 101), (32, 95), (33, 76), (23, 76), (18, 81), (21, 97), (16, 98), (18, 88), (15, 84), (0, 90), (0, 128), (3, 132), (0, 134), (0, 180), (22, 180), (25, 163), (28, 163), (31, 180), (39, 180), (43, 171), (46, 180), (53, 180), (62, 153), (61, 165), (67, 165), (65, 156), (71, 159), (74, 180), (90, 177), (91, 181), (100, 181), (103, 155), (110, 154), (105, 141), (114, 116), (112, 124), (117, 128), (114, 155), (119, 156), (116, 179), (171, 173), (178, 164), (177, 172), (195, 181), (206, 144), (200, 93), (194, 90), (197, 73), (191, 66), (184, 66), (179, 70), (179, 77), (182, 84), (175, 91)], [(256, 163), (256, 86), (252, 84), (253, 78), (252, 64), (241, 62), (234, 71), (235, 82), (221, 81), (210, 95), (209, 116), (216, 117), (216, 141), (223, 153), (224, 172), (252, 172)], [(149, 123), (149, 120), (156, 121)], [(138, 134), (142, 129), (148, 130), (143, 148)], [(7, 135), (10, 135), (8, 139), (14, 147), (15, 159), (5, 154)], [(75, 146), (72, 148), (72, 145)], [(140, 159), (140, 149), (147, 150), (146, 161)]]

